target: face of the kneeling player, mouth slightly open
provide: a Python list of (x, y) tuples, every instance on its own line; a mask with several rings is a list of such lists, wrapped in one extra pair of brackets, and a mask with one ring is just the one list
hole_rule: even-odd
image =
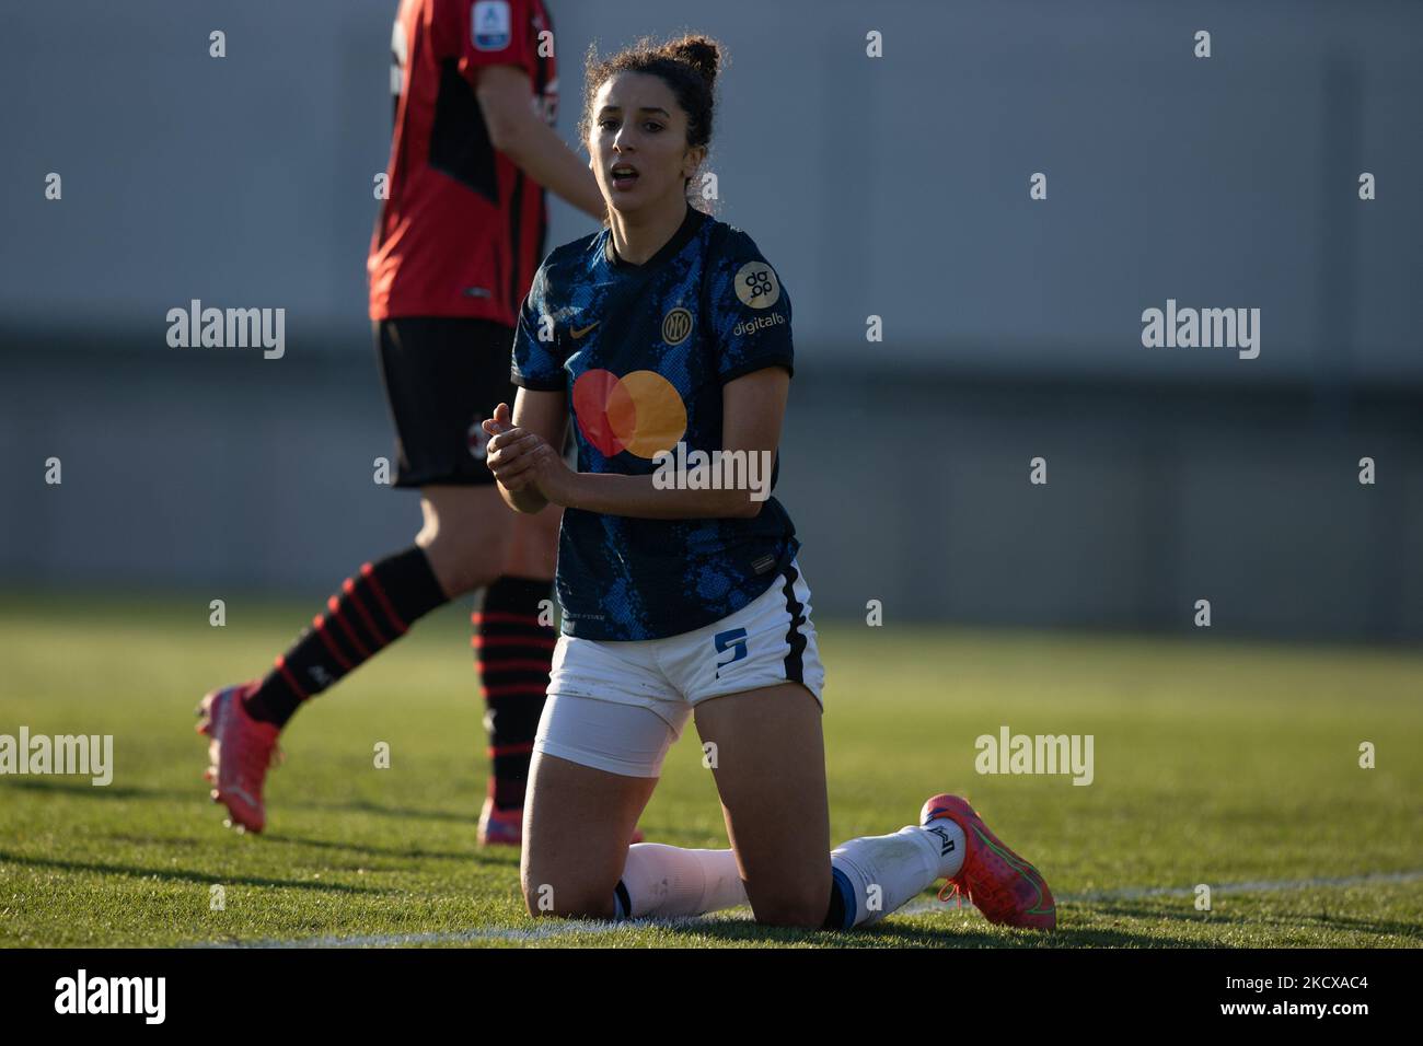
[(676, 206), (706, 147), (687, 148), (687, 114), (647, 73), (618, 73), (593, 98), (589, 167), (608, 206), (623, 213)]

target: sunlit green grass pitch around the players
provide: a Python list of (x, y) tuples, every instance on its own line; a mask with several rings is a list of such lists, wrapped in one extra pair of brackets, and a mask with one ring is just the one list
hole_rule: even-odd
[[(114, 734), (114, 781), (0, 777), (0, 945), (1419, 946), (1423, 655), (889, 623), (821, 628), (832, 838), (968, 794), (1059, 897), (1053, 935), (932, 892), (851, 934), (748, 912), (665, 925), (532, 921), (518, 854), (480, 850), (482, 703), (464, 606), (316, 699), (283, 739), (268, 831), (201, 780), (192, 709), (270, 663), (303, 603), (0, 598), (0, 733)], [(979, 776), (973, 740), (1096, 739), (1096, 780)], [(391, 766), (374, 767), (377, 741)], [(1377, 766), (1359, 767), (1359, 744)], [(726, 845), (694, 730), (643, 817)], [(1192, 888), (1212, 887), (1211, 911)], [(222, 885), (225, 908), (211, 908)]]

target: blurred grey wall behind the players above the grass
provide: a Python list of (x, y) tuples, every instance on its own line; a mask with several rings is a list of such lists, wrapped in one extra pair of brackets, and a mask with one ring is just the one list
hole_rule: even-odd
[[(565, 135), (589, 41), (730, 48), (717, 213), (795, 303), (778, 494), (818, 612), (1423, 632), (1423, 7), (549, 7)], [(364, 295), (394, 9), (0, 11), (0, 582), (320, 595), (408, 541)], [(169, 349), (194, 297), (285, 307), (286, 356)], [(1259, 359), (1144, 349), (1168, 297), (1259, 307)]]

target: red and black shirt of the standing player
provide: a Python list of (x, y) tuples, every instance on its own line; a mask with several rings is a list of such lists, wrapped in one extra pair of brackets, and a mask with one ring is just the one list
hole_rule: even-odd
[(370, 317), (472, 316), (514, 326), (544, 256), (544, 186), (490, 142), (478, 70), (529, 74), (558, 111), (542, 0), (401, 0), (391, 50), (396, 131), (370, 258)]

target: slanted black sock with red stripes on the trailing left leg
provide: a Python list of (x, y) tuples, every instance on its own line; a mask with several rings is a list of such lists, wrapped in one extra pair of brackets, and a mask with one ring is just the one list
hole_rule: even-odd
[(245, 702), (248, 714), (283, 726), (297, 706), (406, 635), (417, 618), (450, 602), (418, 545), (364, 564), (326, 601), (292, 649)]

